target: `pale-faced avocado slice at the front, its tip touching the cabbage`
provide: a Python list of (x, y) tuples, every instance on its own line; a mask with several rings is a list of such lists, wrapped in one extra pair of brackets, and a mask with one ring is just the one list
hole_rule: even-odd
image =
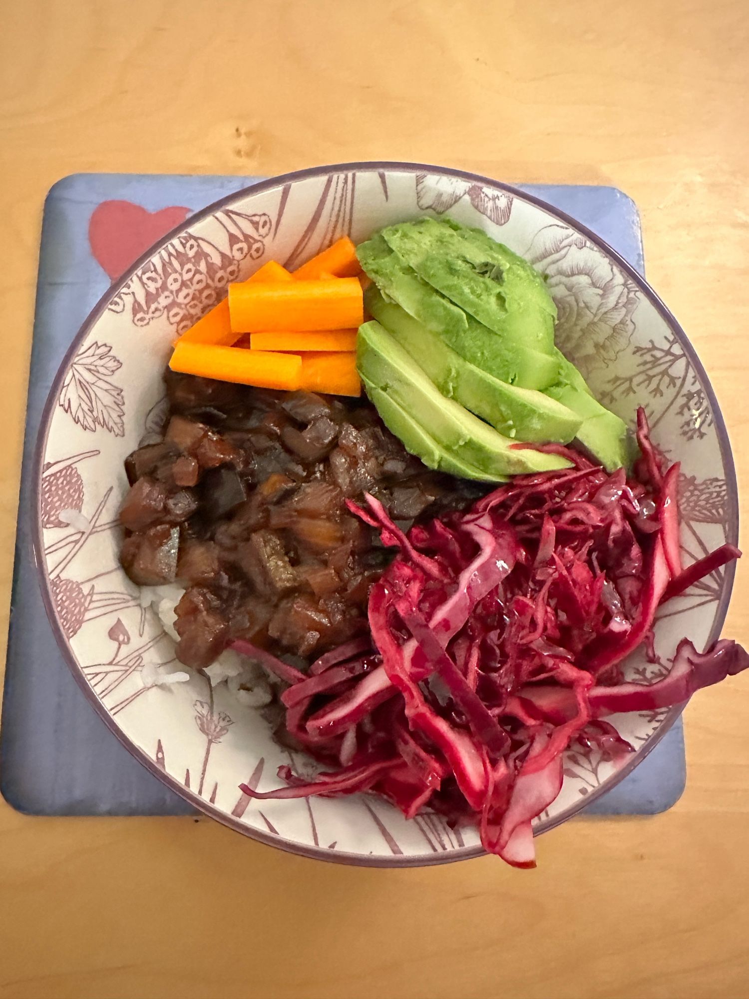
[[(445, 399), (410, 355), (379, 323), (365, 323), (357, 338), (357, 367), (362, 379), (391, 398), (428, 436), (455, 458), (478, 469), (489, 481), (529, 472), (568, 468), (557, 455), (514, 450), (513, 443)], [(420, 455), (419, 455), (420, 457)]]

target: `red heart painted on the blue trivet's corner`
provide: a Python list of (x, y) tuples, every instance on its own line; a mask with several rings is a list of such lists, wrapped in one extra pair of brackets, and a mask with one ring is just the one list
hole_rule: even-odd
[(149, 212), (132, 201), (103, 201), (89, 222), (91, 252), (114, 281), (190, 212), (176, 205)]

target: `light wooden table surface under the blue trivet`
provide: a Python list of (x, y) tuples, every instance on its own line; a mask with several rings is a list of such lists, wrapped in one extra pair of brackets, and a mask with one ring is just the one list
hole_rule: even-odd
[[(749, 461), (746, 0), (0, 2), (0, 582), (11, 577), (44, 196), (77, 171), (273, 174), (416, 160), (612, 184)], [(744, 532), (746, 541), (746, 532)], [(749, 641), (740, 567), (726, 633)], [(749, 681), (685, 716), (656, 818), (575, 821), (540, 866), (386, 871), (208, 819), (0, 802), (0, 996), (749, 996)]]

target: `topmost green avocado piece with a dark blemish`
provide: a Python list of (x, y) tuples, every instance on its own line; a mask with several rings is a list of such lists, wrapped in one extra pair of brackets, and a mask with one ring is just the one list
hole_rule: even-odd
[(428, 218), (381, 235), (419, 278), (515, 347), (554, 350), (556, 308), (543, 280), (500, 243)]

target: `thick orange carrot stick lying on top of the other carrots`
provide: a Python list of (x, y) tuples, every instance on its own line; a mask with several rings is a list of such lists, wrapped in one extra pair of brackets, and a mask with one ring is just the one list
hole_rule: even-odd
[(232, 329), (239, 333), (351, 330), (364, 322), (356, 278), (229, 286)]

